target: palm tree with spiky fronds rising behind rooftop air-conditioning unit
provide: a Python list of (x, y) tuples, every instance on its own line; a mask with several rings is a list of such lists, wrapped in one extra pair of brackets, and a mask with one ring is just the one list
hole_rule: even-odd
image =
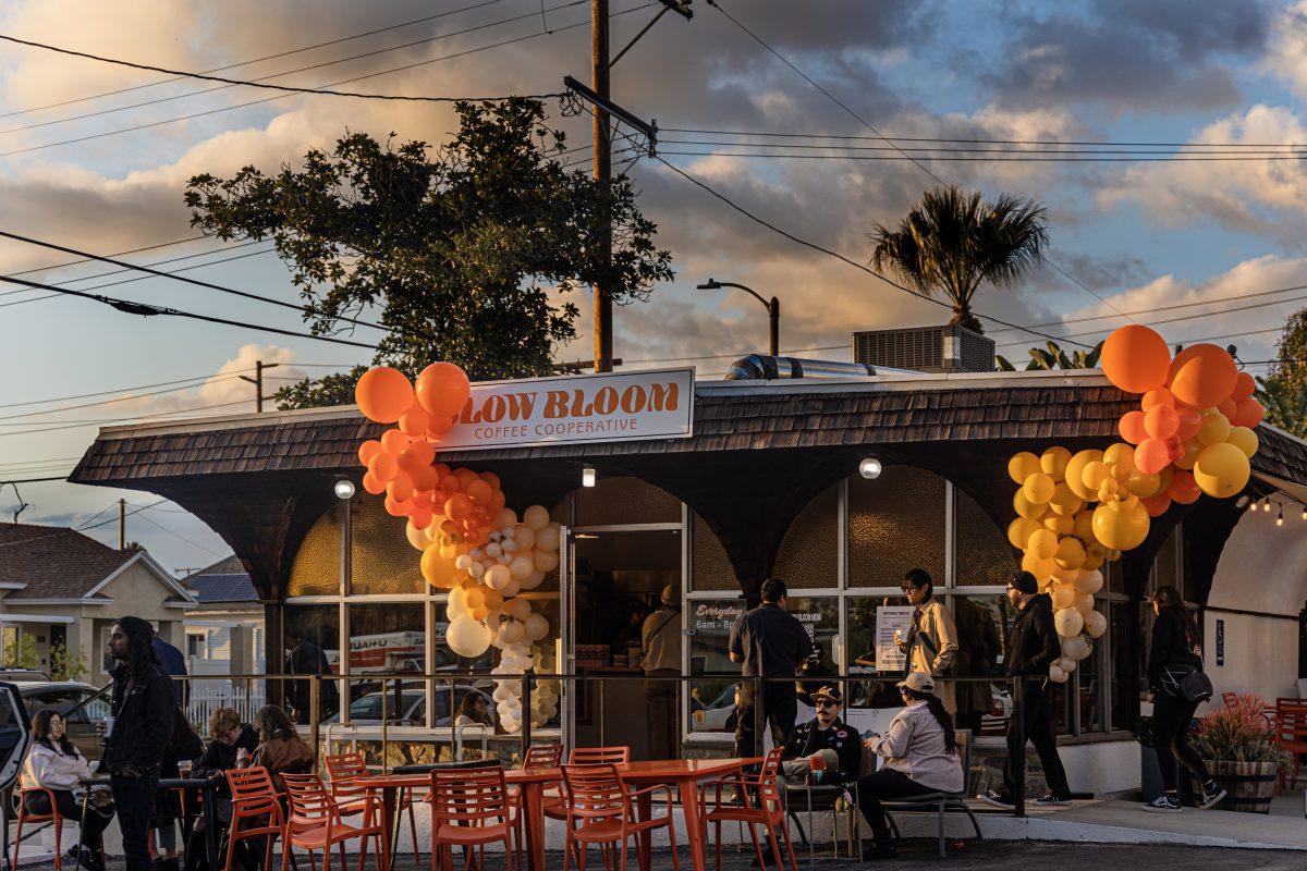
[(983, 333), (971, 313), (982, 283), (1014, 287), (1043, 261), (1047, 210), (1010, 193), (984, 202), (955, 187), (927, 191), (898, 229), (873, 223), (872, 265), (895, 273), (914, 290), (946, 296), (953, 320)]

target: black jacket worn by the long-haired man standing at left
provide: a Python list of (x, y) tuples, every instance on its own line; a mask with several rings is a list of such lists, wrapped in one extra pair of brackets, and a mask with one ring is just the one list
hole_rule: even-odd
[(176, 722), (173, 679), (150, 662), (132, 671), (114, 669), (114, 729), (105, 742), (99, 770), (119, 773), (124, 767), (157, 777)]

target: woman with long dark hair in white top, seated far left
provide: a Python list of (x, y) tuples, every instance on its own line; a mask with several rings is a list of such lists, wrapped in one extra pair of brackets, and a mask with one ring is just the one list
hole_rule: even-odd
[[(82, 867), (90, 871), (105, 871), (99, 861), (101, 834), (114, 819), (114, 802), (105, 790), (91, 793), (86, 806), (86, 817), (81, 812), (81, 778), (93, 777), (90, 764), (81, 751), (68, 740), (64, 733), (64, 718), (56, 712), (38, 710), (31, 718), (31, 748), (22, 763), (22, 789), (48, 789), (55, 797), (55, 808), (67, 820), (81, 820), (81, 837), (77, 850), (81, 853)], [(29, 814), (50, 814), (50, 795), (29, 793), (24, 797)]]

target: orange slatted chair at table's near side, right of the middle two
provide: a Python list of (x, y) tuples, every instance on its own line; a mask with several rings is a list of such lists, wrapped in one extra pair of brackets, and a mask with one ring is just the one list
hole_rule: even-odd
[[(631, 799), (648, 793), (667, 793), (667, 816), (639, 820)], [(617, 842), (622, 842), (621, 871), (626, 871), (626, 854), (633, 836), (646, 831), (667, 827), (672, 842), (672, 867), (681, 870), (676, 855), (676, 827), (672, 823), (672, 787), (656, 784), (640, 790), (627, 791), (617, 768), (610, 764), (563, 765), (563, 793), (566, 798), (566, 840), (563, 842), (563, 871), (569, 868), (572, 850), (576, 851), (576, 866), (586, 871), (586, 853), (591, 844), (597, 844), (604, 858), (604, 867), (612, 867), (612, 853)], [(608, 845), (612, 845), (609, 849)]]

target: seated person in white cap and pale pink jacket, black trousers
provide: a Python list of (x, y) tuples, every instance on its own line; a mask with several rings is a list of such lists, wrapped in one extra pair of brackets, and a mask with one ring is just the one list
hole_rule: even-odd
[(874, 844), (863, 859), (897, 854), (881, 799), (911, 798), (925, 793), (959, 793), (965, 784), (953, 718), (935, 695), (935, 679), (914, 671), (899, 684), (903, 710), (885, 735), (872, 734), (865, 750), (882, 760), (881, 768), (857, 781), (857, 804), (872, 827)]

